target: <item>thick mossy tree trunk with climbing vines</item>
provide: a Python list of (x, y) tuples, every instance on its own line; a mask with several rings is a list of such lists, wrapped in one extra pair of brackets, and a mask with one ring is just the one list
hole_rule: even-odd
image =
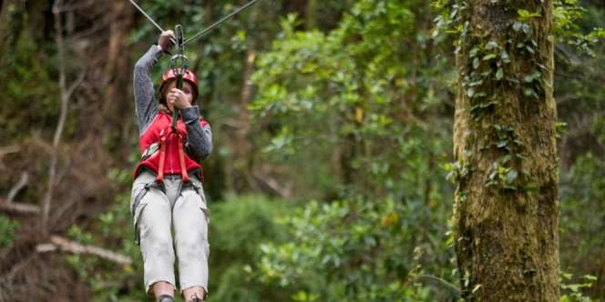
[(552, 0), (460, 7), (452, 175), (462, 296), (559, 301)]

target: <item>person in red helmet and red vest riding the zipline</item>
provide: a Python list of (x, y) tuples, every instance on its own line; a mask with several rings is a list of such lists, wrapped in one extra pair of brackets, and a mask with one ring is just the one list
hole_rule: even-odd
[[(175, 37), (172, 31), (159, 36), (135, 65), (134, 95), (138, 118), (138, 148), (141, 160), (134, 172), (130, 213), (135, 242), (144, 262), (144, 285), (149, 297), (174, 301), (175, 250), (179, 258), (180, 295), (202, 301), (208, 295), (208, 206), (202, 188), (200, 159), (212, 151), (210, 125), (195, 106), (198, 80), (189, 70), (182, 89), (176, 88), (173, 70), (162, 76), (159, 102), (154, 100), (150, 73), (159, 58), (168, 53)], [(172, 113), (179, 110), (176, 129)]]

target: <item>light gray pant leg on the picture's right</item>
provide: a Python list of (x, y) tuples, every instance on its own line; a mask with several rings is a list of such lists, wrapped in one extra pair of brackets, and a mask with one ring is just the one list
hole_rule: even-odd
[(192, 186), (183, 187), (172, 210), (175, 246), (179, 257), (179, 286), (204, 287), (208, 293), (208, 207), (203, 191)]

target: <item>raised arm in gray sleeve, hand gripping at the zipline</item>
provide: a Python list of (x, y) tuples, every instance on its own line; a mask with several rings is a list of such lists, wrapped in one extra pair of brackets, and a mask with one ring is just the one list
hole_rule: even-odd
[(138, 120), (138, 134), (142, 134), (158, 113), (158, 103), (153, 99), (155, 91), (151, 80), (151, 69), (158, 63), (159, 57), (172, 46), (172, 31), (163, 32), (158, 45), (152, 45), (135, 65), (133, 86), (135, 92), (135, 111)]

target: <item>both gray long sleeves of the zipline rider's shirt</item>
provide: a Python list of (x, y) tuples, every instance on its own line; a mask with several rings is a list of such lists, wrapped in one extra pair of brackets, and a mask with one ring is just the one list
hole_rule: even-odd
[[(135, 111), (138, 120), (138, 135), (142, 136), (158, 115), (158, 102), (154, 100), (155, 90), (151, 80), (151, 69), (158, 63), (162, 51), (157, 45), (149, 47), (147, 53), (138, 59), (134, 70)], [(212, 151), (212, 131), (210, 125), (200, 124), (200, 108), (191, 106), (180, 110), (187, 127), (187, 149), (192, 156), (206, 159)]]

